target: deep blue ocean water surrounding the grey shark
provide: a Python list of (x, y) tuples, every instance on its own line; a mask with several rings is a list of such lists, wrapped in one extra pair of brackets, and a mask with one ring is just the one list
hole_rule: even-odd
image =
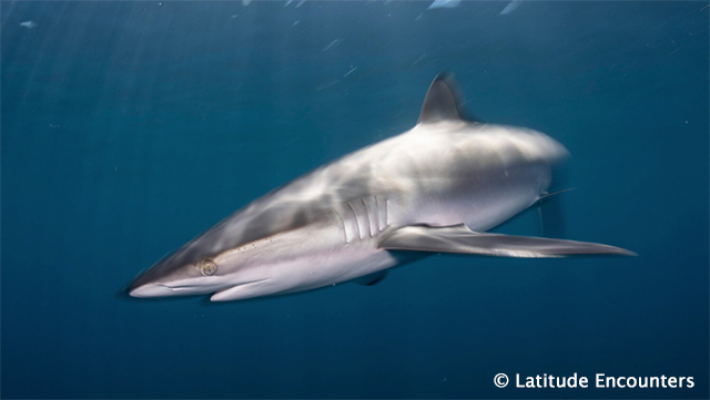
[[(707, 398), (708, 3), (428, 4), (3, 1), (0, 394)], [(250, 201), (412, 127), (444, 70), (478, 117), (568, 147), (565, 237), (639, 256), (433, 256), (224, 305), (120, 295)]]

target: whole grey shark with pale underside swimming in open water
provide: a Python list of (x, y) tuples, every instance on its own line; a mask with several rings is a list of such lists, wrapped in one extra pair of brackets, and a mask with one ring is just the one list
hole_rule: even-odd
[(296, 178), (158, 261), (133, 297), (239, 300), (382, 279), (390, 250), (506, 257), (632, 255), (594, 243), (486, 234), (547, 195), (567, 157), (551, 137), (467, 119), (450, 75), (417, 124)]

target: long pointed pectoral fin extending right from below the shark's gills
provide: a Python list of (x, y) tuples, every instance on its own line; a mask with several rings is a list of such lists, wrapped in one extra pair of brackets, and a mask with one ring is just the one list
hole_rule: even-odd
[(443, 227), (405, 226), (385, 236), (378, 247), (388, 250), (464, 253), (527, 258), (566, 257), (582, 254), (636, 255), (623, 248), (597, 243), (477, 233), (468, 229), (464, 224)]

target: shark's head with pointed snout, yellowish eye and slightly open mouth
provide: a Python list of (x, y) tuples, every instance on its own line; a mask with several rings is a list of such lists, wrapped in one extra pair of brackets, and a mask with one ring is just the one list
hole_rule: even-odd
[[(332, 216), (329, 203), (305, 211), (297, 203), (292, 197), (276, 205), (253, 202), (141, 273), (126, 291), (132, 297), (212, 294), (211, 300), (225, 301), (290, 290), (300, 285), (288, 263), (301, 229), (327, 225)], [(291, 250), (281, 254), (284, 249)]]

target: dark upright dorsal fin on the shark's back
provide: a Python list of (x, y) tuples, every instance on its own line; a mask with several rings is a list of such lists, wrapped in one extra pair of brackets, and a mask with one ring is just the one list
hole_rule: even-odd
[(463, 109), (459, 93), (454, 75), (447, 72), (439, 73), (426, 92), (417, 124), (439, 121), (475, 122), (476, 120)]

